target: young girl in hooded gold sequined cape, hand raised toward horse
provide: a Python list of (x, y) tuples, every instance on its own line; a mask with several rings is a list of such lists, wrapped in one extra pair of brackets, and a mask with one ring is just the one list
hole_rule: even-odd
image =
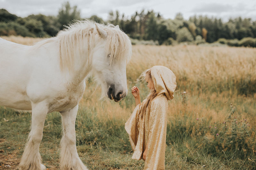
[(150, 93), (140, 102), (140, 90), (133, 86), (136, 108), (125, 123), (132, 149), (132, 159), (145, 160), (144, 169), (164, 169), (168, 100), (173, 98), (176, 76), (164, 66), (154, 66), (141, 75)]

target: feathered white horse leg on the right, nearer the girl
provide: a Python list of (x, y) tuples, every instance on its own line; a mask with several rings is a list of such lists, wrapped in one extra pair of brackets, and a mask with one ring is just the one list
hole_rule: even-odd
[(68, 111), (60, 112), (63, 125), (63, 136), (60, 144), (61, 170), (87, 170), (76, 151), (75, 122), (77, 110), (78, 105)]

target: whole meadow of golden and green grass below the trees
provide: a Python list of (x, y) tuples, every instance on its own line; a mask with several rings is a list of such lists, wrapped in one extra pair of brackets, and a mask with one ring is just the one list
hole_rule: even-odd
[[(2, 37), (32, 45), (41, 39)], [(135, 108), (129, 89), (154, 65), (169, 67), (177, 88), (169, 101), (165, 169), (256, 169), (256, 48), (214, 46), (132, 47), (127, 65), (128, 95), (119, 103), (100, 100), (87, 80), (76, 117), (77, 151), (89, 169), (143, 169), (133, 160), (124, 123)], [(17, 82), (18, 83), (18, 82)], [(0, 107), (0, 169), (17, 169), (31, 125), (31, 113)], [(59, 169), (60, 113), (47, 115), (40, 145), (49, 170)], [(10, 166), (10, 167), (7, 167)]]

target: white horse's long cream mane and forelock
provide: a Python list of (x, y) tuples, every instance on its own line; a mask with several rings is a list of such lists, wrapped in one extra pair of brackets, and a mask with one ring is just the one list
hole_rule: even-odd
[[(108, 33), (105, 53), (106, 56), (109, 55), (110, 64), (119, 60), (130, 60), (132, 55), (131, 40), (123, 31), (114, 28), (112, 24), (103, 25), (94, 21), (84, 20), (67, 26), (56, 36), (60, 42), (60, 67), (62, 69), (73, 69), (74, 57), (81, 56), (83, 50), (86, 49), (84, 42), (87, 42), (88, 46), (92, 45), (94, 35), (97, 34), (95, 24)], [(90, 61), (89, 58), (88, 61)], [(89, 66), (90, 63), (88, 62), (87, 65)]]

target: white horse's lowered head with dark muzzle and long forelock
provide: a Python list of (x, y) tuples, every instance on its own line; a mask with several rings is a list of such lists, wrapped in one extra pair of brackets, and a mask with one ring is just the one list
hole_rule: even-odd
[(102, 93), (119, 102), (127, 95), (126, 63), (132, 55), (129, 37), (119, 26), (95, 24), (92, 52), (92, 73)]

